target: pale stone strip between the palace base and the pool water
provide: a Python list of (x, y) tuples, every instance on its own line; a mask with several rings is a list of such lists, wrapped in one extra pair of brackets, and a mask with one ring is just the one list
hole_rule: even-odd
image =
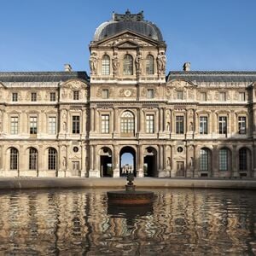
[[(0, 189), (125, 188), (125, 177), (1, 177)], [(140, 188), (256, 189), (256, 178), (136, 177)]]

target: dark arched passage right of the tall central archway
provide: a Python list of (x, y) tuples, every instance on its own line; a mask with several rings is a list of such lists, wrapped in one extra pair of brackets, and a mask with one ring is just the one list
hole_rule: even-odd
[(144, 152), (144, 177), (156, 177), (157, 170), (157, 160), (156, 160), (157, 152), (154, 148), (148, 147)]

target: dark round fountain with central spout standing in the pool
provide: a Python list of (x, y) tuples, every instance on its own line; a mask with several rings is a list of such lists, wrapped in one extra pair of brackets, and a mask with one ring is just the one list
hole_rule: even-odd
[(125, 185), (125, 190), (108, 191), (108, 202), (110, 204), (125, 206), (125, 205), (147, 205), (152, 203), (154, 192), (151, 191), (136, 191), (134, 185), (133, 173), (127, 174), (128, 183)]

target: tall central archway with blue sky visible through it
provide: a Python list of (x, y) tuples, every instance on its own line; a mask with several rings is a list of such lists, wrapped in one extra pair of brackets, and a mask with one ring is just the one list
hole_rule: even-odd
[(122, 148), (119, 157), (120, 176), (125, 176), (128, 172), (132, 172), (136, 176), (136, 152), (134, 148)]

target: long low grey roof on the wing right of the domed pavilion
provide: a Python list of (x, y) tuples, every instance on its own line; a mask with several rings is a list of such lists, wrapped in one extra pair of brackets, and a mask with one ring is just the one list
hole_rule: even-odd
[(166, 80), (185, 79), (196, 82), (212, 83), (253, 83), (256, 81), (256, 72), (253, 71), (171, 71)]

